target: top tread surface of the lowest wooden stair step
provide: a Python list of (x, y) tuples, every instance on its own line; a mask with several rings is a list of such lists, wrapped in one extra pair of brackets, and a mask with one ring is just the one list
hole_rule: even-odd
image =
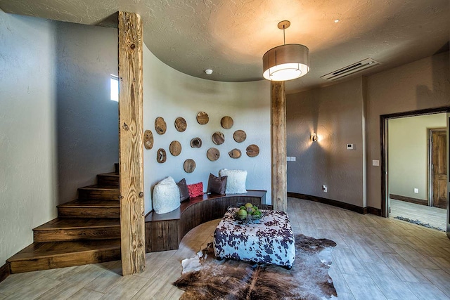
[(120, 249), (120, 239), (79, 240), (68, 242), (34, 242), (11, 256), (9, 263), (30, 259), (46, 259), (56, 256), (70, 256), (86, 252), (102, 252)]

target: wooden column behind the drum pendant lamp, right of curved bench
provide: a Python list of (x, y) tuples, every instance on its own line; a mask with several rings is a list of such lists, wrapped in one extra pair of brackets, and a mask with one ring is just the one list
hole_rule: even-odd
[(286, 95), (284, 81), (271, 81), (272, 203), (286, 211), (288, 204), (286, 169)]

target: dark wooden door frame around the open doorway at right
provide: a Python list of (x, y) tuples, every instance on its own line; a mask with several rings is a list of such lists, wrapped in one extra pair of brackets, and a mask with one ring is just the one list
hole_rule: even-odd
[[(389, 216), (389, 180), (387, 174), (387, 120), (401, 117), (415, 117), (421, 115), (434, 115), (439, 113), (449, 113), (450, 106), (426, 108), (423, 110), (411, 110), (408, 112), (395, 112), (388, 115), (380, 115), (380, 142), (381, 142), (381, 216)], [(448, 148), (448, 145), (447, 145)], [(447, 165), (450, 162), (447, 162)]]

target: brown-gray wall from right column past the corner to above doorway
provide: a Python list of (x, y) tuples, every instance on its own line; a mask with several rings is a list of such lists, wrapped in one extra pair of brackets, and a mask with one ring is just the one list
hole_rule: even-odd
[[(288, 162), (288, 191), (381, 208), (381, 171), (372, 166), (381, 159), (380, 115), (450, 105), (449, 72), (445, 52), (288, 95), (288, 156), (297, 156)], [(308, 140), (314, 131), (323, 142)], [(345, 143), (356, 150), (345, 150)]]

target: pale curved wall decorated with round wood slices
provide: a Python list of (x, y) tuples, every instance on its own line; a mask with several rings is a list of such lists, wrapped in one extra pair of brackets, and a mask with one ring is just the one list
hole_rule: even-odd
[[(199, 79), (176, 71), (162, 63), (143, 47), (143, 124), (154, 136), (151, 150), (144, 149), (144, 189), (146, 213), (151, 210), (151, 192), (155, 183), (167, 176), (175, 181), (186, 178), (188, 184), (203, 182), (204, 191), (210, 173), (218, 175), (219, 169), (244, 169), (248, 171), (247, 188), (267, 190), (266, 202), (271, 203), (271, 143), (270, 143), (270, 84), (269, 81), (221, 82)], [(199, 72), (201, 71), (199, 66)], [(210, 122), (200, 125), (195, 117), (198, 112), (207, 112)], [(234, 124), (223, 129), (221, 117), (230, 116)], [(155, 118), (163, 117), (167, 123), (164, 135), (155, 132)], [(174, 127), (176, 117), (184, 117), (186, 131), (178, 132)], [(242, 129), (247, 133), (243, 143), (233, 140), (233, 132)], [(214, 131), (224, 133), (225, 142), (214, 145)], [(192, 138), (200, 137), (201, 148), (191, 148)], [(172, 156), (169, 144), (181, 143), (181, 154)], [(259, 146), (257, 157), (250, 158), (245, 148), (250, 144)], [(206, 157), (209, 148), (220, 150), (220, 158), (210, 162)], [(158, 148), (167, 152), (167, 161), (156, 161)], [(232, 159), (228, 152), (238, 148), (242, 157)], [(186, 159), (194, 159), (196, 168), (191, 174), (183, 169)]]

